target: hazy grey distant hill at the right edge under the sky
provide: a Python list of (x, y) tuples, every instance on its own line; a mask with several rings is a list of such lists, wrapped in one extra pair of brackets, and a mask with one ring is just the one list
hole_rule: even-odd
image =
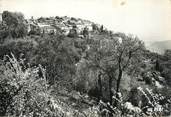
[(153, 52), (163, 54), (166, 49), (171, 49), (171, 40), (155, 41), (147, 46)]

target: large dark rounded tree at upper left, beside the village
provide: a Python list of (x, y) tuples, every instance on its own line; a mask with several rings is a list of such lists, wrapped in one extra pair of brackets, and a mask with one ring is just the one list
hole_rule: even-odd
[(22, 13), (4, 11), (2, 13), (2, 20), (7, 25), (10, 37), (19, 38), (27, 35), (27, 26)]

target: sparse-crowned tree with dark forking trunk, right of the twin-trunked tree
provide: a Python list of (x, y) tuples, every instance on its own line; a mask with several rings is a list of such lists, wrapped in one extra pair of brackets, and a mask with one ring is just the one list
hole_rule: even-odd
[(133, 67), (136, 63), (140, 62), (141, 53), (145, 47), (144, 43), (133, 35), (127, 36), (123, 33), (118, 33), (116, 35), (121, 39), (116, 52), (118, 69), (116, 97), (118, 97), (123, 72), (125, 72), (127, 68)]

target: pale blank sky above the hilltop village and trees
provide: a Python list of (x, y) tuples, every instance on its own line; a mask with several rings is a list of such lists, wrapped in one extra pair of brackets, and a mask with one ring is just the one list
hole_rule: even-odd
[(103, 24), (145, 42), (171, 40), (171, 0), (0, 0), (0, 12), (70, 16)]

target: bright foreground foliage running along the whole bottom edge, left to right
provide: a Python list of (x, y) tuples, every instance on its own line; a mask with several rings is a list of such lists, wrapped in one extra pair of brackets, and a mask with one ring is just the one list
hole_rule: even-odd
[(79, 111), (52, 96), (52, 88), (48, 85), (45, 76), (46, 70), (41, 65), (26, 66), (23, 59), (17, 60), (11, 54), (4, 57), (0, 68), (2, 115), (19, 117), (161, 116), (170, 111), (169, 99), (161, 94), (154, 94), (148, 88), (144, 91), (141, 87), (137, 90), (147, 101), (143, 107), (124, 102), (120, 95), (120, 98), (113, 96), (113, 100), (119, 102), (117, 107), (100, 100), (96, 106)]

